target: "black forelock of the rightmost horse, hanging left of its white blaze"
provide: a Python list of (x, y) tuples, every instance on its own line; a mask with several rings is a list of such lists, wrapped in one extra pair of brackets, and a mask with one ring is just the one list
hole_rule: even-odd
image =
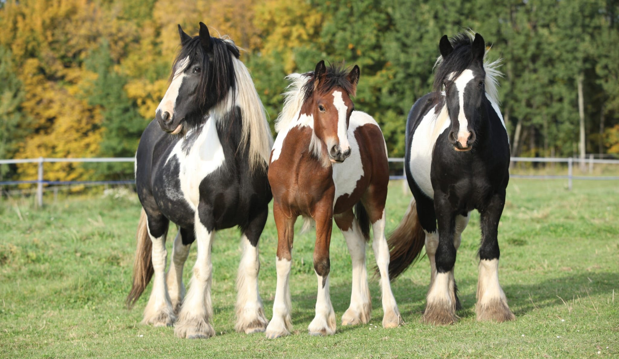
[(449, 38), (449, 43), (454, 50), (439, 64), (434, 76), (433, 90), (440, 92), (444, 81), (452, 72), (456, 73), (454, 79), (469, 68), (470, 64), (475, 60), (473, 53), (473, 39), (467, 33), (458, 33), (454, 37)]

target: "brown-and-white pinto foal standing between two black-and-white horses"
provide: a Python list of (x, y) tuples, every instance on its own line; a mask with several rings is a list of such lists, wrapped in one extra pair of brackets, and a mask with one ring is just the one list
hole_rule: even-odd
[[(290, 334), (292, 243), (297, 217), (305, 228), (316, 222), (314, 270), (318, 275), (316, 317), (309, 334), (335, 332), (335, 313), (329, 296), (329, 243), (333, 219), (342, 230), (352, 257), (352, 295), (342, 324), (367, 323), (371, 298), (365, 267), (370, 223), (374, 255), (381, 274), (383, 327), (401, 322), (389, 283), (389, 248), (384, 235), (387, 197), (387, 150), (378, 124), (366, 113), (353, 111), (359, 67), (352, 71), (320, 61), (313, 72), (292, 74), (284, 110), (277, 118), (279, 132), (271, 152), (269, 183), (277, 225), (277, 290), (270, 339)], [(353, 207), (355, 207), (353, 214)]]

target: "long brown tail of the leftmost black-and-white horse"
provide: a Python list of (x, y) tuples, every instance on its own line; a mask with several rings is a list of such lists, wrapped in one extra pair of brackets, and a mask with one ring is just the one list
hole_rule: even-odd
[(146, 212), (142, 209), (140, 222), (137, 225), (137, 249), (136, 260), (133, 262), (133, 286), (127, 296), (127, 308), (136, 304), (136, 301), (144, 292), (155, 270), (151, 260), (153, 243), (149, 237), (147, 228)]

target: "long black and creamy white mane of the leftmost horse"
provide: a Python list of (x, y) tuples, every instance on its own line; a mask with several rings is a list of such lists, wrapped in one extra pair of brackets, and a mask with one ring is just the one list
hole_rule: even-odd
[[(249, 167), (266, 169), (273, 145), (266, 111), (251, 79), (249, 70), (239, 59), (240, 49), (228, 37), (210, 38), (212, 53), (207, 53), (199, 36), (183, 43), (172, 66), (172, 74), (186, 71), (196, 59), (201, 59), (203, 71), (197, 87), (197, 105), (204, 113), (241, 109), (242, 132), (239, 147), (249, 145)], [(189, 61), (186, 61), (189, 59)], [(209, 66), (210, 65), (210, 66)], [(182, 68), (177, 68), (181, 67)], [(190, 126), (197, 127), (204, 116), (195, 118)], [(223, 116), (214, 116), (216, 120)], [(222, 124), (225, 126), (225, 124)], [(250, 136), (251, 134), (251, 136)]]

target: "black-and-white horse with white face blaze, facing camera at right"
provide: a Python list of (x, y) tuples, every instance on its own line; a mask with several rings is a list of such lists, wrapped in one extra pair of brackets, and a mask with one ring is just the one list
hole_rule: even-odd
[(477, 33), (451, 41), (445, 35), (439, 49), (435, 92), (415, 102), (406, 124), (405, 171), (414, 198), (389, 238), (389, 272), (392, 278), (401, 274), (425, 244), (431, 281), (423, 321), (456, 322), (456, 251), (477, 209), (482, 227), (477, 320), (512, 320), (498, 280), (497, 233), (509, 180), (509, 144), (496, 89), (499, 62), (485, 61)]

